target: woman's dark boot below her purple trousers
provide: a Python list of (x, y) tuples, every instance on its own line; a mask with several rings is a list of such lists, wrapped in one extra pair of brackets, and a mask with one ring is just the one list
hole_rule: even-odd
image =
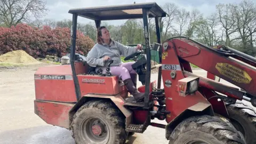
[(136, 102), (143, 101), (144, 93), (141, 93), (137, 90), (137, 88), (134, 86), (131, 78), (125, 79), (123, 82), (124, 82), (126, 88), (128, 89), (128, 91), (133, 95)]

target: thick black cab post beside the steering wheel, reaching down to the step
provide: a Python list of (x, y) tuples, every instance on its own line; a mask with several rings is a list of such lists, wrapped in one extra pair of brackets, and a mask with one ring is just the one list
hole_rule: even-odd
[(143, 26), (144, 26), (144, 36), (145, 36), (145, 46), (147, 55), (147, 70), (146, 70), (146, 83), (145, 83), (145, 98), (144, 107), (149, 108), (149, 84), (150, 84), (150, 72), (151, 72), (151, 54), (150, 54), (150, 37), (148, 28), (148, 10), (143, 9)]

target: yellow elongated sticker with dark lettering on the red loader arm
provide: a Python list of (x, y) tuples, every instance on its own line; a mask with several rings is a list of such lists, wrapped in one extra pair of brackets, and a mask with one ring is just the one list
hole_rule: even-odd
[(252, 80), (246, 71), (229, 65), (229, 63), (217, 63), (215, 68), (220, 72), (221, 75), (226, 76), (238, 83), (249, 84)]

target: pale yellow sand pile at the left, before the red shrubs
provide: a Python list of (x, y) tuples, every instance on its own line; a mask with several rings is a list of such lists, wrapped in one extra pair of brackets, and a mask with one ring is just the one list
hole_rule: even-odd
[(22, 63), (25, 65), (40, 63), (39, 61), (31, 57), (28, 53), (22, 50), (11, 51), (0, 55), (0, 62), (17, 64)]

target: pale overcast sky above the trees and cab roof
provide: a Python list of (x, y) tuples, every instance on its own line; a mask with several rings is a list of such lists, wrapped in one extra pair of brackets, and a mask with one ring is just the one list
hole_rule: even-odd
[[(133, 4), (156, 2), (162, 6), (165, 3), (175, 3), (179, 7), (184, 7), (187, 10), (197, 8), (205, 15), (211, 14), (215, 11), (215, 5), (218, 3), (239, 3), (242, 0), (47, 0), (47, 8), (50, 10), (44, 18), (62, 20), (71, 19), (72, 15), (68, 13), (69, 9), (81, 8), (81, 7), (94, 7), (105, 5), (119, 5), (119, 4)], [(256, 1), (256, 0), (255, 0)], [(78, 22), (90, 22), (91, 20), (79, 18)], [(119, 24), (123, 21), (107, 21), (111, 24)]]

